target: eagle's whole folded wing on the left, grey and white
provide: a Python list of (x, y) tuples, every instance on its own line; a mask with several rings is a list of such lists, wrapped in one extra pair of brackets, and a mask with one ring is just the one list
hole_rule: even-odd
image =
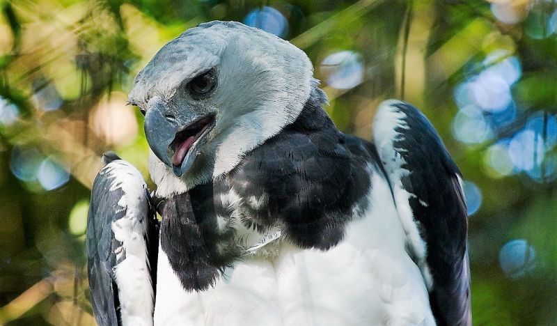
[(87, 221), (93, 313), (101, 326), (152, 325), (159, 222), (141, 173), (111, 160), (93, 183)]

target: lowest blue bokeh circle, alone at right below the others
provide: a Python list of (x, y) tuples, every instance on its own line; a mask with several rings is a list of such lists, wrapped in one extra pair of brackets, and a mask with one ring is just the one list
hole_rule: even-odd
[(499, 251), (499, 265), (510, 279), (524, 277), (538, 265), (535, 249), (524, 239), (511, 240)]

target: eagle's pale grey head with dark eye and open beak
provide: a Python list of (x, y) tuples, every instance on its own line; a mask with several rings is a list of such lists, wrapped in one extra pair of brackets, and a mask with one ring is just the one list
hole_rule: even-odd
[(185, 31), (129, 95), (145, 115), (152, 179), (177, 193), (228, 173), (295, 121), (312, 76), (303, 51), (260, 29), (209, 22)]

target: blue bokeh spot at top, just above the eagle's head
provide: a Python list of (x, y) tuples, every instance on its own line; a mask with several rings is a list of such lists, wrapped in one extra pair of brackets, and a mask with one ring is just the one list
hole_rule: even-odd
[(286, 17), (280, 11), (268, 6), (251, 10), (244, 18), (244, 24), (281, 38), (285, 38), (289, 30)]

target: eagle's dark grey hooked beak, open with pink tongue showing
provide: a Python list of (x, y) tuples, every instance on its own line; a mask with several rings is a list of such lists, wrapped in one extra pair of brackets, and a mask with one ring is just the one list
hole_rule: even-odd
[(213, 127), (214, 114), (174, 116), (166, 113), (160, 98), (149, 101), (145, 115), (149, 147), (178, 177), (194, 164), (200, 148), (206, 143), (205, 136)]

